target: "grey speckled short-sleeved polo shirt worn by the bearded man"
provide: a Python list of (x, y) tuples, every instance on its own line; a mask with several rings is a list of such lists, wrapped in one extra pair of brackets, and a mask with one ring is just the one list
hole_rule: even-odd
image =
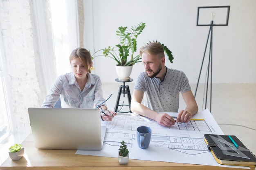
[[(139, 73), (134, 90), (144, 93), (144, 105), (156, 112), (178, 112), (180, 92), (191, 90), (185, 73), (167, 68), (164, 80)], [(146, 93), (145, 93), (146, 92)]]

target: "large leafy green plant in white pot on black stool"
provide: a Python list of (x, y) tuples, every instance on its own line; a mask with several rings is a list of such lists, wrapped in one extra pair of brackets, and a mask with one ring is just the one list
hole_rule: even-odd
[[(141, 57), (139, 54), (134, 56), (134, 53), (137, 51), (137, 38), (145, 26), (146, 24), (143, 22), (139, 23), (137, 26), (132, 26), (130, 29), (127, 26), (120, 26), (116, 31), (119, 38), (119, 44), (115, 45), (113, 48), (108, 46), (108, 48), (100, 49), (94, 52), (91, 55), (92, 59), (98, 56), (112, 58), (117, 63), (116, 70), (119, 80), (125, 81), (130, 79), (132, 66), (137, 62), (141, 62)], [(164, 51), (172, 63), (173, 55), (171, 54), (171, 51), (164, 46), (164, 44), (162, 44), (162, 46), (164, 47)], [(102, 54), (96, 55), (99, 52), (102, 52)]]

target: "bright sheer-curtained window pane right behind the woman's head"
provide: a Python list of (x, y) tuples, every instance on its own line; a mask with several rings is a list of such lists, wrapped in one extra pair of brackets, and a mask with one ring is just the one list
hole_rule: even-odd
[(52, 35), (57, 75), (72, 71), (70, 53), (79, 46), (78, 14), (76, 1), (50, 1)]

